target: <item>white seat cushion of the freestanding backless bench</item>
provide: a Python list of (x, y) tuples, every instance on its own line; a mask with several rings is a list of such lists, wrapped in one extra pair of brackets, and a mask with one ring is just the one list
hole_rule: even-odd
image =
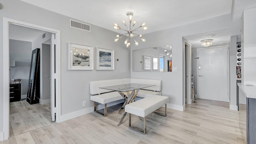
[(168, 96), (151, 95), (136, 102), (126, 104), (125, 112), (145, 117), (169, 102)]

